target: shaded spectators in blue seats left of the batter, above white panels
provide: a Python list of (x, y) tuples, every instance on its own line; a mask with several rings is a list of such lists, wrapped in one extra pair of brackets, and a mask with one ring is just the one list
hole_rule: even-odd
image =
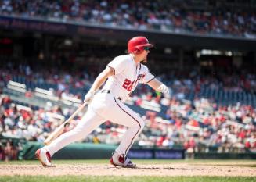
[(51, 90), (58, 97), (70, 95), (81, 98), (85, 94), (82, 92), (91, 86), (94, 79), (93, 75), (89, 75), (85, 70), (75, 70), (72, 73), (58, 70), (56, 67), (38, 67), (32, 70), (27, 64), (16, 67), (12, 62), (9, 62), (5, 68), (0, 68), (0, 71), (0, 87), (3, 87), (9, 80), (17, 81), (27, 85), (27, 96), (31, 95), (31, 89), (40, 87)]

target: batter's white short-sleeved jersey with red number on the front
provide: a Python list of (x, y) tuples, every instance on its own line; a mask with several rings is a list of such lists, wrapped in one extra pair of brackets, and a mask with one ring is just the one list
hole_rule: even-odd
[(120, 55), (114, 58), (107, 66), (114, 69), (114, 75), (106, 80), (104, 90), (110, 90), (122, 102), (140, 84), (147, 84), (154, 76), (141, 63), (136, 66), (132, 55)]

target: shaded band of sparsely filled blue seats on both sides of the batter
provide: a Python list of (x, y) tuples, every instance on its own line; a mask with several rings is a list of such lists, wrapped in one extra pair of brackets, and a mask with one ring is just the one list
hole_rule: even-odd
[[(9, 80), (26, 84), (27, 97), (31, 95), (31, 89), (41, 87), (51, 90), (59, 98), (67, 95), (81, 99), (96, 79), (96, 73), (92, 74), (85, 70), (58, 70), (56, 67), (41, 66), (31, 68), (27, 64), (17, 67), (11, 62), (8, 66), (0, 68), (0, 71), (2, 87)], [(196, 70), (184, 73), (171, 70), (171, 73), (162, 73), (157, 77), (168, 85), (172, 98), (193, 100), (197, 97), (206, 97), (222, 105), (229, 105), (234, 101), (256, 106), (256, 74), (250, 71), (226, 73), (219, 70), (215, 74), (205, 74)], [(147, 91), (152, 90), (141, 85), (133, 95), (139, 96)]]

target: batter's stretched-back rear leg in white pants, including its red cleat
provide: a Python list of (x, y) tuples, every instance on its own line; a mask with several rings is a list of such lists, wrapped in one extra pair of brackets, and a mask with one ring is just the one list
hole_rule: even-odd
[(92, 130), (95, 130), (96, 127), (104, 121), (103, 117), (96, 114), (96, 112), (89, 107), (85, 116), (81, 118), (78, 125), (74, 127), (73, 130), (60, 135), (56, 140), (52, 141), (50, 145), (38, 149), (36, 152), (38, 159), (41, 161), (43, 166), (52, 166), (50, 158), (54, 153), (74, 141), (80, 141), (85, 138), (92, 132)]

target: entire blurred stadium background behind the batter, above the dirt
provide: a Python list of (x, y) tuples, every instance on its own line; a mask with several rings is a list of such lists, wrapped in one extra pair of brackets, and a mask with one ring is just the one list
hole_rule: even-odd
[[(0, 0), (0, 159), (34, 159), (138, 35), (171, 93), (126, 102), (146, 123), (129, 155), (256, 159), (255, 0)], [(125, 130), (106, 121), (56, 158), (110, 157)]]

